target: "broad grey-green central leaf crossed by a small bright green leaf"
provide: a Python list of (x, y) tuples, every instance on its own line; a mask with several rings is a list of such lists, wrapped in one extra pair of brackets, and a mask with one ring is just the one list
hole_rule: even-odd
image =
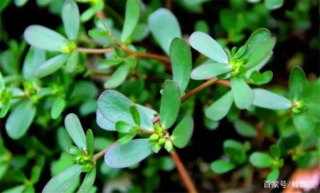
[[(134, 105), (128, 98), (119, 92), (113, 90), (104, 91), (98, 99), (98, 111), (104, 118), (116, 123), (117, 121), (125, 121), (134, 125), (130, 113), (130, 106)], [(138, 108), (141, 128), (153, 131), (153, 124), (151, 119)]]

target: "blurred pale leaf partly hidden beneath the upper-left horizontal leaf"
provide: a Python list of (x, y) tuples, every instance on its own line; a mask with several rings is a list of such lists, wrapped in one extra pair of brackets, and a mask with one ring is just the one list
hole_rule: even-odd
[[(30, 47), (22, 65), (22, 75), (26, 80), (34, 80), (34, 72), (42, 63), (45, 62), (44, 50)], [(1, 89), (0, 89), (1, 90)]]

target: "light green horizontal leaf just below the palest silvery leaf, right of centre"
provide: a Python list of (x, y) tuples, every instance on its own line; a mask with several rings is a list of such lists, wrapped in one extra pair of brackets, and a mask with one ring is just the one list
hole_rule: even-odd
[(191, 72), (193, 80), (206, 80), (231, 71), (231, 66), (225, 63), (202, 64)]

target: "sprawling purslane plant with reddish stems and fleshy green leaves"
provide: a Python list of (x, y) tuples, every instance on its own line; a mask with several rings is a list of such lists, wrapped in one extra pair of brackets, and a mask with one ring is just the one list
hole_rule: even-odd
[[(91, 6), (80, 15), (75, 2), (90, 3)], [(281, 1), (278, 5), (268, 5), (268, 2), (265, 1), (265, 5), (270, 9), (282, 5)], [(5, 129), (10, 138), (23, 139), (32, 122), (44, 128), (58, 126), (63, 120), (63, 111), (76, 105), (80, 106), (82, 116), (95, 113), (95, 121), (100, 128), (116, 131), (120, 136), (111, 144), (106, 142), (107, 145), (94, 154), (97, 137), (93, 138), (91, 129), (84, 133), (75, 114), (66, 115), (65, 129), (60, 127), (57, 135), (62, 141), (70, 138), (75, 144), (70, 139), (60, 144), (61, 149), (66, 151), (63, 155), (71, 157), (72, 164), (52, 174), (42, 192), (65, 192), (72, 188), (75, 191), (76, 185), (75, 188), (73, 186), (78, 183), (81, 173), (85, 173), (85, 177), (77, 191), (94, 192), (99, 158), (104, 157), (104, 163), (110, 168), (133, 167), (163, 147), (176, 164), (188, 191), (196, 192), (175, 151), (175, 147), (184, 148), (189, 144), (193, 129), (196, 129), (193, 112), (182, 111), (182, 102), (213, 84), (226, 89), (215, 97), (217, 100), (203, 107), (205, 120), (212, 129), (217, 127), (219, 120), (227, 117), (239, 135), (252, 140), (267, 138), (273, 143), (265, 152), (251, 147), (249, 141), (226, 139), (222, 145), (224, 157), (212, 160), (210, 164), (214, 173), (253, 165), (269, 168), (266, 180), (273, 181), (279, 176), (285, 156), (291, 156), (298, 167), (318, 163), (319, 79), (308, 81), (300, 67), (293, 67), (288, 92), (259, 88), (272, 79), (271, 71), (260, 72), (271, 59), (276, 44), (276, 38), (269, 30), (257, 29), (243, 46), (229, 50), (199, 31), (193, 32), (188, 40), (182, 39), (179, 23), (168, 9), (159, 8), (146, 15), (138, 0), (128, 0), (123, 28), (119, 31), (109, 18), (102, 15), (100, 11), (103, 7), (103, 1), (65, 1), (61, 8), (63, 35), (43, 26), (27, 27), (23, 37), (31, 47), (22, 65), (21, 77), (13, 79), (0, 72), (0, 117), (8, 115)], [(94, 15), (97, 15), (93, 19), (94, 28), (85, 36), (91, 37), (94, 45), (103, 48), (81, 48), (79, 37), (84, 34), (81, 22), (87, 22)], [(141, 16), (148, 16), (147, 21), (143, 21)], [(165, 56), (146, 53), (132, 44), (149, 33)], [(190, 47), (205, 58), (204, 62), (193, 68)], [(96, 68), (91, 68), (86, 63), (87, 54), (104, 54), (104, 58), (98, 60)], [(121, 86), (125, 86), (131, 77), (142, 79), (144, 75), (152, 74), (150, 69), (154, 66), (162, 67), (157, 74), (165, 74), (165, 70), (171, 73), (161, 77), (164, 80), (161, 89), (153, 89), (154, 93), (161, 95), (159, 101), (153, 101), (153, 104), (158, 104), (158, 108), (152, 105), (153, 109), (142, 105), (147, 97), (150, 98), (148, 92), (142, 92), (143, 85), (142, 89), (134, 91), (136, 93), (130, 92), (131, 96), (122, 93), (130, 85), (124, 89)], [(99, 74), (108, 76), (103, 82), (107, 90), (96, 100), (97, 86), (90, 81), (75, 82), (74, 77), (82, 75), (92, 78)], [(205, 82), (190, 90), (190, 79)], [(134, 89), (140, 88), (140, 84), (137, 85)], [(155, 97), (151, 99), (156, 100)], [(205, 100), (211, 99), (207, 97)], [(242, 120), (240, 111), (256, 117), (258, 123), (253, 126), (252, 122)], [(268, 112), (274, 117), (265, 119), (264, 114), (259, 112)], [(275, 124), (279, 139), (273, 137)], [(267, 126), (271, 128), (266, 130)], [(4, 155), (0, 166), (5, 168), (4, 172), (9, 167), (11, 154), (2, 140), (0, 146), (1, 156)], [(41, 146), (41, 149), (46, 152), (45, 147)], [(44, 165), (42, 158), (37, 157), (36, 160), (40, 161), (32, 167), (30, 179), (23, 175), (23, 180), (19, 181), (23, 184), (12, 191), (32, 191), (33, 184), (39, 179), (39, 170)], [(3, 173), (0, 173), (0, 178), (1, 175)]]

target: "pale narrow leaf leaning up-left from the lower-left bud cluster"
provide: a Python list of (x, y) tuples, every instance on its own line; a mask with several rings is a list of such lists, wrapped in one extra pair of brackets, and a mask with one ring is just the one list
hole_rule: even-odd
[(64, 118), (64, 126), (75, 145), (85, 150), (86, 140), (79, 118), (73, 113), (66, 115)]

